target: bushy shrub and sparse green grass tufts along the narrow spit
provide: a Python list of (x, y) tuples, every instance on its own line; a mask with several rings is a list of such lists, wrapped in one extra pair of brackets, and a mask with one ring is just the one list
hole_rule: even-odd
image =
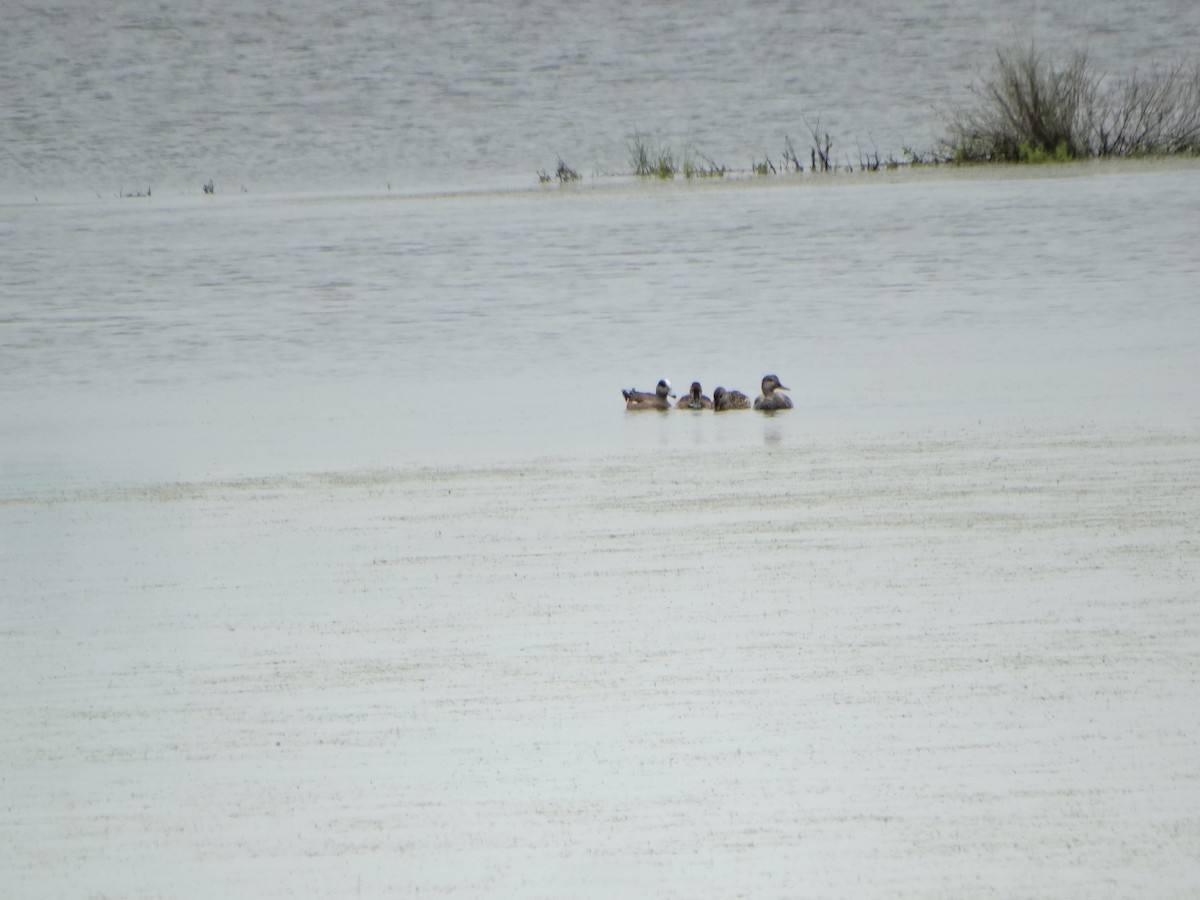
[[(901, 158), (882, 158), (878, 148), (856, 156), (841, 151), (830, 134), (804, 120), (809, 145), (797, 152), (790, 136), (776, 158), (755, 157), (749, 169), (718, 163), (691, 145), (682, 152), (635, 131), (625, 140), (629, 169), (643, 179), (673, 181), (750, 174), (758, 178), (809, 173), (894, 170), (918, 166), (1064, 163), (1105, 158), (1200, 156), (1200, 62), (1153, 66), (1109, 78), (1076, 50), (1055, 62), (1031, 43), (996, 52), (991, 73), (971, 86), (971, 106), (949, 114), (948, 133), (930, 150), (902, 149)], [(835, 146), (838, 150), (835, 151)], [(596, 173), (599, 176), (601, 173)], [(563, 157), (540, 184), (571, 184), (581, 175)]]

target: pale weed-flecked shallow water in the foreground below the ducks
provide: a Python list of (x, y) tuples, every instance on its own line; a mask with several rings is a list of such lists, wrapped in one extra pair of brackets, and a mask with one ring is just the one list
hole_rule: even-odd
[(1194, 895), (1195, 430), (676, 462), (0, 502), (5, 886)]

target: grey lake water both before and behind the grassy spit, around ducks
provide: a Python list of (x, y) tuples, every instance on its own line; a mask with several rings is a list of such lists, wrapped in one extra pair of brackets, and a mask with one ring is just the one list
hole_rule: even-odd
[[(1194, 53), (1200, 10), (20, 7), (0, 36), (6, 468), (761, 442), (611, 413), (622, 386), (754, 394), (767, 371), (820, 427), (1051, 396), (1154, 416), (1195, 372), (1194, 169), (596, 180), (635, 132), (736, 169), (788, 136), (804, 155), (805, 121), (852, 164), (925, 150), (1027, 40), (1120, 76)], [(536, 190), (557, 155), (599, 190)]]

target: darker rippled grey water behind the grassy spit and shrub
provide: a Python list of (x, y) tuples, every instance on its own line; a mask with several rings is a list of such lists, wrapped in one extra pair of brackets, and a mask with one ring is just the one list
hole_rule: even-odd
[(528, 184), (635, 131), (748, 168), (932, 146), (1000, 44), (1123, 74), (1196, 53), (1192, 0), (244, 4), (61, 0), (0, 30), (0, 197)]

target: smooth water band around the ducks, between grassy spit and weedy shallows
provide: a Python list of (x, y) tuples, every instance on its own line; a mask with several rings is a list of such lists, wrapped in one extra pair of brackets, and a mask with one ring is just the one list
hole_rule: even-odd
[[(1194, 422), (1195, 167), (14, 208), (7, 480)], [(662, 376), (792, 418), (630, 416)]]

